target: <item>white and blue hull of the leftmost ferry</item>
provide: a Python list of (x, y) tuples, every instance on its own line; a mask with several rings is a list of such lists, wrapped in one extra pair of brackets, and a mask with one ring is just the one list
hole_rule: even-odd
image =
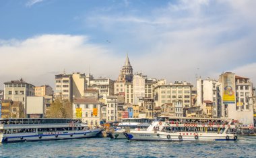
[(24, 141), (51, 141), (60, 139), (82, 139), (96, 137), (100, 133), (100, 129), (88, 131), (69, 131), (67, 133), (18, 133), (18, 134), (2, 134), (0, 135), (0, 143), (14, 143)]

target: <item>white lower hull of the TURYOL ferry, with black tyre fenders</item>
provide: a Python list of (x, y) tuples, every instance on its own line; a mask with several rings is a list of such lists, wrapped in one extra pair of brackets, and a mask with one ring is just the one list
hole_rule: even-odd
[(124, 133), (130, 141), (236, 141), (235, 134), (216, 133), (164, 133), (136, 132)]

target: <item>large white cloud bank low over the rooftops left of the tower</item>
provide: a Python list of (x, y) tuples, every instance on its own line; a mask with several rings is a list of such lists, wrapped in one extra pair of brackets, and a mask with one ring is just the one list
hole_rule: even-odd
[[(54, 86), (55, 74), (81, 72), (117, 78), (119, 60), (103, 46), (90, 44), (82, 35), (40, 35), (27, 40), (5, 41), (0, 45), (0, 82), (24, 78), (35, 86)], [(119, 67), (117, 67), (119, 66)]]

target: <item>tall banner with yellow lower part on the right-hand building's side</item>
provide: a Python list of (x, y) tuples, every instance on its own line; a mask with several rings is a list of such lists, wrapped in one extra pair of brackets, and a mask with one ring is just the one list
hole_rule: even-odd
[(223, 103), (232, 104), (236, 101), (234, 74), (223, 74)]

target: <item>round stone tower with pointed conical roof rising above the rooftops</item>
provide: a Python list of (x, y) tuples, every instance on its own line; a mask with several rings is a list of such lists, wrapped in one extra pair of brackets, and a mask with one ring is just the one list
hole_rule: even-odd
[(131, 67), (128, 54), (126, 56), (125, 65), (120, 71), (119, 81), (131, 82), (133, 80), (133, 68)]

